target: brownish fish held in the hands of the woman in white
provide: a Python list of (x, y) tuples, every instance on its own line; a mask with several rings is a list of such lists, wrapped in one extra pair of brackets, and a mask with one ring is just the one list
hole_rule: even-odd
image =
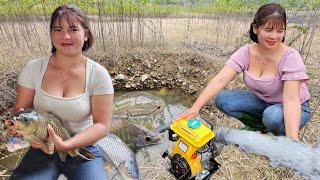
[[(71, 137), (70, 129), (63, 124), (56, 115), (46, 112), (37, 113), (34, 110), (25, 110), (16, 113), (12, 119), (5, 122), (7, 126), (12, 126), (18, 133), (21, 133), (28, 141), (35, 141), (41, 145), (41, 149), (47, 154), (54, 153), (54, 145), (48, 141), (48, 124), (52, 126), (55, 133), (66, 140)], [(59, 152), (60, 159), (65, 161), (67, 154), (84, 160), (91, 160), (94, 154), (85, 148), (76, 148), (68, 152)]]

